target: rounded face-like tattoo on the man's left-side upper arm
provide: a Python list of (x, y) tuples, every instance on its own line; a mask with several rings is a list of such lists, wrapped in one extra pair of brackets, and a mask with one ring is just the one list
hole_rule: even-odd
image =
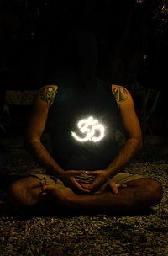
[(50, 86), (48, 88), (41, 88), (39, 91), (40, 99), (48, 104), (53, 104), (55, 99), (56, 90), (54, 87)]

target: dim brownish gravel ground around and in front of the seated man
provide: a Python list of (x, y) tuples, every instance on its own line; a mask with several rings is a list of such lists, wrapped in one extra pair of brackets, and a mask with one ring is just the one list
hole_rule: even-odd
[[(36, 164), (24, 151), (21, 138), (0, 138), (0, 168), (29, 173)], [(164, 195), (159, 205), (135, 216), (42, 215), (9, 211), (0, 205), (0, 256), (168, 255), (168, 154), (145, 147), (129, 166), (132, 173), (160, 180)]]

